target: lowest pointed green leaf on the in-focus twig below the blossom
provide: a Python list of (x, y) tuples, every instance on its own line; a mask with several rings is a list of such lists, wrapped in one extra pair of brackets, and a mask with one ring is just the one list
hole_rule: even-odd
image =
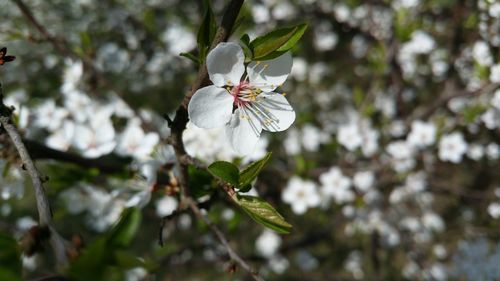
[(255, 196), (238, 196), (236, 201), (241, 208), (257, 223), (278, 233), (290, 233), (292, 225), (276, 211), (276, 209), (263, 199)]

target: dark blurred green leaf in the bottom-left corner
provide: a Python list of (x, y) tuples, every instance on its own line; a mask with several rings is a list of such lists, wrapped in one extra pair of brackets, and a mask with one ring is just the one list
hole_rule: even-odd
[[(12, 236), (0, 233), (0, 280), (21, 280), (21, 248)], [(4, 278), (4, 279), (2, 279)]]

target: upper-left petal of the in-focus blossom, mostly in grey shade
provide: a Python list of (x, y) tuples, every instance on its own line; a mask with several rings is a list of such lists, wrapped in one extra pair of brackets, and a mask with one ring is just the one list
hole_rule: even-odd
[(236, 43), (220, 43), (207, 56), (208, 76), (215, 86), (240, 83), (245, 72), (245, 54)]

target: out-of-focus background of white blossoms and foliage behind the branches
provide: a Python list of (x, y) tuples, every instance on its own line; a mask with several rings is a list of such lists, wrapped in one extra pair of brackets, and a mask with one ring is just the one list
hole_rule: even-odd
[[(173, 213), (174, 159), (161, 116), (172, 116), (196, 78), (198, 65), (179, 54), (198, 52), (203, 1), (25, 0), (51, 38), (18, 4), (0, 2), (0, 46), (17, 57), (0, 68), (0, 79), (49, 177), (56, 228), (75, 248), (65, 274), (248, 280), (241, 269), (232, 272), (203, 222)], [(227, 1), (211, 4), (219, 22)], [(500, 4), (252, 0), (231, 41), (303, 22), (309, 27), (280, 87), (297, 119), (288, 131), (265, 135), (251, 158), (273, 152), (251, 193), (293, 230), (265, 230), (192, 167), (192, 192), (208, 200), (208, 216), (266, 280), (500, 279)], [(90, 146), (75, 140), (83, 138), (78, 126), (99, 139), (108, 122), (113, 134), (102, 142), (113, 147), (89, 156)], [(131, 124), (139, 124), (138, 143), (157, 136), (147, 157), (123, 152)], [(188, 152), (206, 164), (247, 164), (220, 135), (188, 127)], [(50, 248), (36, 247), (31, 184), (8, 138), (0, 138), (0, 280), (50, 276)], [(54, 157), (49, 147), (77, 157)], [(321, 202), (295, 209), (314, 194)]]

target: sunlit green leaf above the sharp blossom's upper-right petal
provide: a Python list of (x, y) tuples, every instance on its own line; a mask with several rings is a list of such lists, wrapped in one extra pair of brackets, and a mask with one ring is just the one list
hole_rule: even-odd
[(307, 29), (307, 24), (285, 27), (259, 36), (250, 42), (254, 60), (269, 60), (279, 57), (290, 50)]

